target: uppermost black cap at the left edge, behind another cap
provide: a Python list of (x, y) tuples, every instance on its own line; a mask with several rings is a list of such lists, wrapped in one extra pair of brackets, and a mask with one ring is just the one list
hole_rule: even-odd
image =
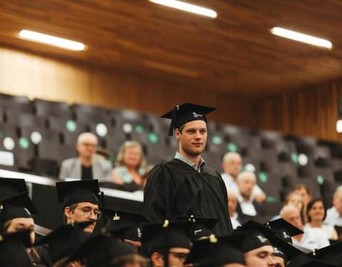
[(21, 192), (28, 194), (24, 179), (0, 177), (0, 199), (6, 199)]

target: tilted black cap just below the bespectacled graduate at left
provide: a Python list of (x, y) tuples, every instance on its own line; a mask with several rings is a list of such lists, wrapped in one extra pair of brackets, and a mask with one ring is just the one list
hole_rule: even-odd
[(83, 221), (81, 223), (73, 222), (72, 224), (64, 224), (55, 231), (52, 231), (41, 240), (37, 241), (33, 246), (48, 244), (48, 253), (53, 263), (61, 258), (71, 256), (78, 246), (86, 241), (88, 235), (83, 231), (86, 226), (93, 224), (94, 221)]

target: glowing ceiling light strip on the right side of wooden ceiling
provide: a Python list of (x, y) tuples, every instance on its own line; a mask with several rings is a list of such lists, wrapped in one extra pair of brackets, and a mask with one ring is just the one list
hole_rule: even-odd
[(286, 30), (286, 28), (274, 27), (271, 29), (271, 33), (273, 33), (277, 36), (289, 38), (289, 39), (300, 41), (303, 43), (309, 43), (309, 44), (314, 45), (314, 46), (323, 46), (323, 47), (329, 48), (329, 49), (331, 49), (333, 47), (333, 45), (331, 44), (330, 41), (327, 41), (327, 40), (324, 40), (321, 38), (317, 38), (314, 36), (309, 36), (309, 35), (306, 35), (303, 33), (297, 33), (296, 31)]

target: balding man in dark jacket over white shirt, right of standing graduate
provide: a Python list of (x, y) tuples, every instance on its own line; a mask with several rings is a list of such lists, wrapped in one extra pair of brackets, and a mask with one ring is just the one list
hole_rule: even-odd
[(239, 194), (237, 194), (237, 214), (257, 216), (264, 215), (264, 209), (258, 201), (253, 199), (252, 191), (257, 182), (253, 172), (242, 172), (238, 175)]

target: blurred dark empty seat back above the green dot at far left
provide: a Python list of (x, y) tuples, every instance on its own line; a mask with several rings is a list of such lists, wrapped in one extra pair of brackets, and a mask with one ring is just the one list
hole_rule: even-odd
[(7, 110), (5, 113), (6, 123), (18, 126), (46, 127), (46, 118), (31, 113)]

